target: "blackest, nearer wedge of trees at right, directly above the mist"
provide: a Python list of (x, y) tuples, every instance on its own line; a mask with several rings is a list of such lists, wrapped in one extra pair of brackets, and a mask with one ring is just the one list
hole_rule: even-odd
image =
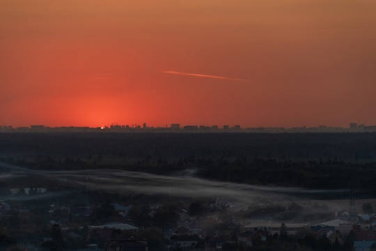
[(250, 162), (207, 165), (199, 169), (198, 176), (251, 185), (328, 190), (353, 189), (362, 190), (363, 195), (374, 195), (376, 192), (375, 168), (376, 162), (253, 159)]

